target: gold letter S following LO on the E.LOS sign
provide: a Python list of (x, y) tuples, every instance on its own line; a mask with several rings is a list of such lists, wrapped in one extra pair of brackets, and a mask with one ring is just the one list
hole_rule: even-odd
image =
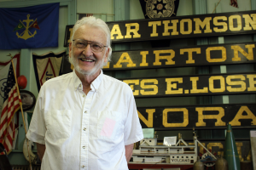
[(231, 82), (231, 79), (245, 80), (246, 77), (244, 77), (242, 75), (235, 75), (235, 76), (228, 76), (228, 77), (226, 77), (227, 84), (229, 84), (229, 85), (240, 85), (241, 86), (241, 88), (232, 88), (232, 86), (227, 86), (227, 90), (229, 92), (243, 92), (243, 91), (245, 91), (247, 89), (246, 82), (243, 82), (243, 81)]

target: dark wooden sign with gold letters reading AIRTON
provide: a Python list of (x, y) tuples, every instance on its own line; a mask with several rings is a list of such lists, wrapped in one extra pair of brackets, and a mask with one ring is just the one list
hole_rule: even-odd
[(106, 71), (255, 63), (253, 42), (113, 52)]

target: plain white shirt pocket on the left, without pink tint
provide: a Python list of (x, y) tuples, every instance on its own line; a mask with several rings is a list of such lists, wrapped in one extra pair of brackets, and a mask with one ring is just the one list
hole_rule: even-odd
[(66, 139), (71, 134), (72, 111), (48, 111), (46, 127), (54, 139)]

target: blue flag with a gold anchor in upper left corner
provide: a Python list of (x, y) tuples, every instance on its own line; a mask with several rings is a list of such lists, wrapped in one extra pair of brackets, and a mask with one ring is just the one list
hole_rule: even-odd
[(0, 49), (58, 47), (59, 6), (0, 8)]

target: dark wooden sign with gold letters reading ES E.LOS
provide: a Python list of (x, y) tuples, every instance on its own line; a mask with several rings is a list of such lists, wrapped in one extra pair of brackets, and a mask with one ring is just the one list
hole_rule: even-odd
[(221, 74), (122, 80), (135, 98), (216, 94), (255, 94), (256, 74)]

